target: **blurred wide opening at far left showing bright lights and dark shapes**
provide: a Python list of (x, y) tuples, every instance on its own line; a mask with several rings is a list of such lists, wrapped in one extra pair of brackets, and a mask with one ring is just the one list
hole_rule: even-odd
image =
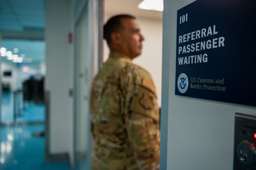
[(3, 39), (1, 125), (45, 121), (44, 40)]

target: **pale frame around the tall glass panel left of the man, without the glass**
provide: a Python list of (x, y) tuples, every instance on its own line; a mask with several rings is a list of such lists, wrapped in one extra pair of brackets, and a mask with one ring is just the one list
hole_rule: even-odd
[[(77, 6), (78, 7), (78, 6)], [(76, 7), (75, 7), (76, 8)], [(77, 109), (77, 95), (79, 93), (78, 87), (78, 51), (77, 48), (79, 46), (77, 42), (78, 32), (77, 28), (82, 21), (84, 15), (88, 15), (88, 24), (89, 24), (89, 89), (91, 89), (91, 82), (94, 75), (98, 72), (99, 68), (102, 66), (103, 61), (103, 21), (104, 21), (104, 0), (92, 0), (92, 1), (85, 1), (83, 7), (78, 14), (77, 18), (75, 18), (75, 23), (73, 26), (74, 30), (74, 74), (73, 74), (73, 158), (71, 159), (71, 167), (75, 170), (76, 167), (76, 119), (78, 114)], [(90, 129), (90, 119), (87, 120), (88, 129)], [(89, 130), (90, 131), (90, 130)], [(90, 169), (90, 155), (91, 155), (91, 133), (89, 132), (87, 135), (87, 153), (86, 159), (89, 159), (87, 169)]]

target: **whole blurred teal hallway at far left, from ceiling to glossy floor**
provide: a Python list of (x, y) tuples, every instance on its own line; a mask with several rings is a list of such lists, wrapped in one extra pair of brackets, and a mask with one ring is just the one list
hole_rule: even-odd
[(45, 164), (45, 0), (0, 1), (0, 169)]

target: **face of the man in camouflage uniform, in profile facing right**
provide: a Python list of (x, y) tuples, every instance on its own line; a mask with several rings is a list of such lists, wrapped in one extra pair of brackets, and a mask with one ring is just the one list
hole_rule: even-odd
[(144, 37), (141, 35), (140, 28), (135, 19), (122, 18), (121, 23), (123, 29), (119, 31), (121, 36), (120, 47), (125, 55), (133, 59), (141, 54)]

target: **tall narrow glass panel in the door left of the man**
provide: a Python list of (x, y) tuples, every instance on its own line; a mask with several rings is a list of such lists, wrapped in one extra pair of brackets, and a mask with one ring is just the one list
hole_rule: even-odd
[(76, 169), (86, 167), (88, 151), (89, 126), (89, 16), (88, 3), (85, 4), (84, 14), (76, 25), (76, 86), (75, 86), (75, 166)]

